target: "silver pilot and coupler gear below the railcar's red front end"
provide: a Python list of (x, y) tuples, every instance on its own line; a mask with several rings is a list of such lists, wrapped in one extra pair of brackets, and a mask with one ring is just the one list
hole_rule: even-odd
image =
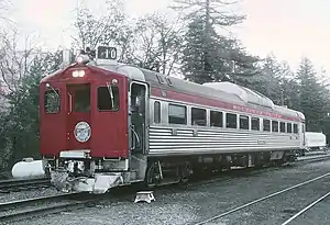
[(135, 171), (128, 170), (128, 160), (56, 159), (48, 162), (51, 182), (62, 192), (105, 193), (111, 188), (141, 181)]

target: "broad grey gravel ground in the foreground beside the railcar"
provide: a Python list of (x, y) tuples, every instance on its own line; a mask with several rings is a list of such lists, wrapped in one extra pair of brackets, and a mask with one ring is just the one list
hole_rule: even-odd
[[(109, 200), (105, 200), (94, 207), (48, 215), (15, 224), (189, 224), (211, 217), (232, 207), (240, 206), (261, 196), (268, 195), (270, 193), (316, 178), (329, 172), (329, 168), (330, 161), (318, 161), (287, 167), (283, 168), (283, 170), (271, 170), (263, 173), (251, 175), (249, 177), (233, 178), (215, 183), (189, 187), (187, 190), (157, 190), (154, 193), (156, 202), (153, 202), (152, 204), (134, 204), (132, 202), (134, 198), (133, 194), (120, 201), (114, 198), (110, 199), (109, 196)], [(266, 212), (262, 211), (262, 207), (256, 207), (255, 210), (243, 212), (242, 214), (244, 215), (235, 214), (235, 217), (231, 216), (230, 221), (222, 220), (213, 224), (233, 224), (231, 221), (235, 224), (244, 224), (244, 220), (255, 217), (261, 221), (257, 223), (250, 221), (249, 224), (277, 225), (278, 220), (274, 220), (272, 217), (273, 213), (280, 214), (277, 217), (285, 221), (285, 218), (288, 218), (297, 210), (300, 210), (300, 207), (302, 209), (305, 204), (309, 204), (309, 202), (314, 199), (318, 199), (320, 195), (324, 194), (329, 184), (326, 182), (327, 180), (329, 182), (330, 177), (324, 178), (323, 181), (316, 182), (314, 185), (307, 184), (306, 188), (301, 187), (300, 189), (304, 191), (297, 192), (296, 195), (285, 194), (282, 198), (277, 198), (275, 205), (274, 203), (270, 203), (270, 205), (265, 207), (270, 209)], [(318, 187), (318, 189), (315, 189), (316, 187)], [(321, 193), (317, 195), (317, 192)], [(300, 202), (302, 200), (305, 202), (299, 205), (295, 204), (293, 209), (292, 205), (296, 202), (297, 198), (299, 198)], [(283, 209), (285, 210), (284, 212)]]

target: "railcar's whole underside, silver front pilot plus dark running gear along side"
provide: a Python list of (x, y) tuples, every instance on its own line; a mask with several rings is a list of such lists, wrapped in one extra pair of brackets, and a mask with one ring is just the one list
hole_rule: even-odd
[[(148, 158), (143, 171), (129, 168), (129, 160), (55, 159), (48, 160), (51, 181), (62, 192), (105, 193), (109, 189), (144, 182), (154, 188), (187, 182), (191, 176), (221, 172), (232, 167), (282, 166), (296, 160), (296, 151), (223, 154), (198, 157)], [(146, 165), (145, 165), (146, 166)], [(141, 167), (140, 167), (141, 168)]]

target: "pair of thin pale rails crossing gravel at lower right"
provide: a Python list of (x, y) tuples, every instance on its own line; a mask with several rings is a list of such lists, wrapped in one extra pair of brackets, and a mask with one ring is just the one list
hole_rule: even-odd
[[(206, 225), (206, 224), (210, 224), (210, 223), (216, 223), (218, 222), (220, 218), (223, 218), (224, 216), (228, 216), (230, 214), (234, 214), (234, 213), (238, 213), (238, 212), (241, 212), (252, 205), (255, 205), (257, 203), (261, 203), (263, 201), (266, 201), (266, 200), (270, 200), (272, 198), (275, 198), (275, 196), (278, 196), (280, 194), (284, 194), (284, 193), (287, 193), (292, 190), (295, 190), (295, 189), (298, 189), (300, 187), (304, 187), (304, 185), (307, 185), (309, 183), (312, 183), (312, 182), (316, 182), (318, 180), (321, 180), (321, 179), (324, 179), (324, 178), (329, 178), (330, 177), (330, 172), (328, 173), (324, 173), (322, 176), (319, 176), (317, 178), (314, 178), (314, 179), (310, 179), (310, 180), (307, 180), (305, 182), (301, 182), (301, 183), (298, 183), (296, 185), (293, 185), (293, 187), (289, 187), (289, 188), (286, 188), (286, 189), (283, 189), (280, 191), (277, 191), (277, 192), (274, 192), (272, 194), (268, 194), (266, 196), (263, 196), (263, 198), (260, 198), (260, 199), (256, 199), (254, 201), (251, 201), (251, 202), (248, 202), (243, 205), (240, 205), (240, 206), (235, 206), (233, 207), (232, 210), (229, 210), (229, 211), (226, 211), (226, 212), (222, 212), (218, 215), (215, 215), (215, 216), (211, 216), (211, 217), (208, 217), (206, 220), (202, 220), (202, 221), (199, 221), (198, 223), (193, 223), (194, 225)], [(282, 225), (287, 225), (289, 224), (290, 222), (293, 222), (295, 218), (297, 218), (299, 215), (304, 214), (307, 210), (311, 209), (312, 206), (315, 206), (317, 203), (319, 203), (320, 201), (322, 201), (323, 199), (328, 198), (330, 195), (330, 192), (326, 193), (324, 195), (322, 195), (321, 198), (317, 199), (316, 201), (314, 201), (312, 203), (308, 204), (306, 207), (304, 207), (302, 210), (300, 210), (298, 213), (296, 213), (295, 215), (293, 215), (290, 218), (288, 218), (287, 221), (285, 221)]]

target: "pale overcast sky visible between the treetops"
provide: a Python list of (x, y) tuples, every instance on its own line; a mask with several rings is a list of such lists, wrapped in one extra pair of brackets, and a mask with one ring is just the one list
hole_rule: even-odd
[[(77, 2), (100, 13), (103, 0), (12, 0), (11, 16), (20, 30), (38, 34), (51, 47), (70, 44), (70, 25)], [(99, 2), (98, 4), (96, 2)], [(172, 0), (127, 0), (127, 12), (142, 15), (165, 9)], [(296, 67), (308, 56), (330, 72), (330, 0), (242, 0), (246, 21), (232, 31), (249, 52), (270, 52)]]

